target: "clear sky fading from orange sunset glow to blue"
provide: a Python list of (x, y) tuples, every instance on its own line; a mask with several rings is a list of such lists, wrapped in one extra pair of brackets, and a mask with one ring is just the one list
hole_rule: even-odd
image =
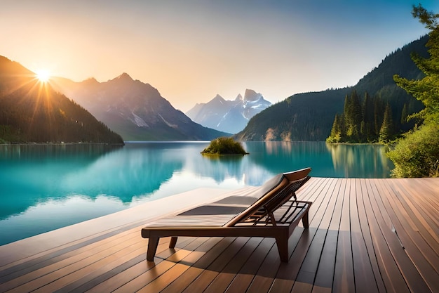
[(428, 31), (422, 0), (0, 0), (0, 56), (76, 82), (123, 72), (182, 111), (352, 86)]

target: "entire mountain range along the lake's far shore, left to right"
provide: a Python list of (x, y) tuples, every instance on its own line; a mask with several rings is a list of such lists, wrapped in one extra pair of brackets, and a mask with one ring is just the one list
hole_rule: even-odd
[[(153, 86), (133, 80), (126, 73), (107, 82), (53, 78), (45, 84), (19, 63), (0, 56), (0, 142), (212, 140), (236, 133), (250, 117), (245, 128), (234, 136), (236, 139), (325, 141), (351, 91), (359, 96), (367, 92), (379, 97), (384, 106), (388, 104), (393, 122), (399, 127), (396, 131), (403, 132), (407, 131), (403, 129), (407, 127), (403, 118), (423, 105), (396, 86), (393, 74), (421, 78), (410, 54), (428, 57), (427, 40), (424, 36), (394, 51), (355, 86), (298, 93), (271, 106), (260, 93), (247, 90), (244, 97), (228, 101), (216, 96), (189, 110), (188, 115), (195, 121), (212, 128), (221, 126), (227, 132), (193, 122)], [(264, 107), (268, 108), (262, 110)]]

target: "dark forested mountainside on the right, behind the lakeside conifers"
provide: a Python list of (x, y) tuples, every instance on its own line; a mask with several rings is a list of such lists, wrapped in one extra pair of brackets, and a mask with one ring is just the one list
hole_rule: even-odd
[(421, 78), (423, 74), (412, 62), (410, 53), (428, 56), (426, 41), (428, 36), (391, 53), (355, 86), (299, 93), (272, 105), (255, 115), (235, 137), (241, 141), (325, 141), (330, 136), (335, 115), (344, 113), (346, 96), (351, 96), (353, 91), (356, 91), (359, 103), (364, 102), (366, 94), (371, 100), (379, 100), (381, 108), (377, 113), (382, 113), (381, 119), (384, 119), (389, 104), (391, 119), (395, 123), (394, 133), (406, 131), (413, 124), (405, 123), (403, 115), (417, 112), (423, 105), (396, 86), (393, 74), (407, 79)]

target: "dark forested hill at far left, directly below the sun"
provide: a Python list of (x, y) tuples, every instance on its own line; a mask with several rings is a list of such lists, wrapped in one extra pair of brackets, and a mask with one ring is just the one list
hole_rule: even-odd
[(123, 139), (36, 74), (0, 56), (0, 143), (112, 143)]

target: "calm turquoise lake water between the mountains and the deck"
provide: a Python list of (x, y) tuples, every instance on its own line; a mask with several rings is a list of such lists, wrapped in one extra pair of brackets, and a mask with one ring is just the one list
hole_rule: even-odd
[(251, 142), (244, 157), (204, 157), (207, 145), (0, 145), (0, 245), (194, 188), (261, 185), (304, 167), (348, 178), (393, 168), (380, 145)]

